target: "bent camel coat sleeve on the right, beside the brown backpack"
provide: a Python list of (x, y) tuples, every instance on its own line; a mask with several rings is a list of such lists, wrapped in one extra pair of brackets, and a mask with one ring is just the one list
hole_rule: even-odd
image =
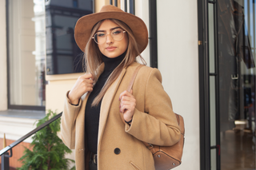
[(151, 70), (145, 90), (145, 110), (140, 112), (135, 109), (131, 125), (125, 127), (126, 132), (150, 144), (176, 144), (181, 132), (170, 97), (162, 87), (162, 76), (158, 69)]

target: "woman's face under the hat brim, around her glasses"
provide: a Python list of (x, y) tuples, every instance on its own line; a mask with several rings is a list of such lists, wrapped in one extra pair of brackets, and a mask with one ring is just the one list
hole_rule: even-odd
[(111, 32), (116, 29), (121, 28), (114, 22), (106, 19), (102, 22), (102, 25), (99, 26), (97, 32), (105, 32), (106, 34), (106, 42), (102, 44), (98, 44), (98, 49), (102, 52), (106, 57), (114, 58), (120, 56), (124, 53), (128, 46), (128, 38), (127, 33), (124, 33), (124, 37), (120, 41), (115, 41), (111, 37)]

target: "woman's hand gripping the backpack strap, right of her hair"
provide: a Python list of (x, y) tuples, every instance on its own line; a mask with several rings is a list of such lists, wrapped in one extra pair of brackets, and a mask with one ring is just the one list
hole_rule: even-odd
[(136, 99), (132, 95), (133, 90), (124, 91), (119, 96), (120, 112), (123, 113), (123, 119), (127, 122), (131, 121), (134, 116), (134, 109), (136, 106)]

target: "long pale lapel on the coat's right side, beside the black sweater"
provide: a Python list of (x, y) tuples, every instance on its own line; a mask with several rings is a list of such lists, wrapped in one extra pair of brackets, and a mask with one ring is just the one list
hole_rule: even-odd
[(122, 69), (122, 72), (118, 76), (117, 80), (115, 80), (112, 85), (110, 85), (109, 89), (106, 90), (104, 97), (102, 98), (102, 105), (99, 117), (99, 125), (98, 125), (98, 152), (100, 151), (100, 144), (102, 141), (102, 134), (104, 132), (104, 128), (106, 126), (106, 119), (108, 117), (110, 111), (110, 105), (113, 101), (114, 95), (122, 81), (122, 77), (125, 75), (126, 69)]

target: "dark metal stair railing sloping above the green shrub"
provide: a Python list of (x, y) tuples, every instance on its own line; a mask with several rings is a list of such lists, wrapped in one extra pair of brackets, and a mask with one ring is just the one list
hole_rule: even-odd
[[(1, 156), (1, 159), (2, 159), (1, 169), (2, 170), (9, 170), (10, 169), (9, 158), (13, 155), (12, 154), (12, 148), (14, 148), (14, 146), (20, 144), (23, 140), (26, 140), (26, 138), (34, 135), (34, 133), (38, 132), (42, 128), (45, 128), (47, 125), (49, 125), (53, 121), (56, 121), (59, 117), (62, 117), (62, 113), (58, 113), (58, 115), (51, 118), (49, 121), (46, 121), (42, 125), (39, 125), (37, 128), (34, 128), (34, 130), (32, 130), (31, 132), (28, 132), (26, 135), (22, 136), (20, 139), (14, 141), (14, 143), (10, 144), (9, 146), (6, 146), (6, 148), (3, 148), (0, 151), (0, 156)], [(10, 151), (10, 155), (9, 155), (8, 151)]]

